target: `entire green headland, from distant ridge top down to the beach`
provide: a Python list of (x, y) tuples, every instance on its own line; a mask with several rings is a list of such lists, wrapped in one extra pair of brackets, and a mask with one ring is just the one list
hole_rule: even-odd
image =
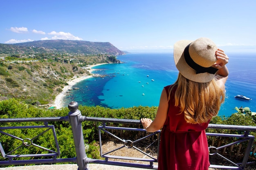
[(88, 65), (120, 63), (115, 56), (124, 54), (109, 42), (45, 40), (0, 44), (0, 100), (52, 103), (68, 85), (68, 79), (90, 75)]

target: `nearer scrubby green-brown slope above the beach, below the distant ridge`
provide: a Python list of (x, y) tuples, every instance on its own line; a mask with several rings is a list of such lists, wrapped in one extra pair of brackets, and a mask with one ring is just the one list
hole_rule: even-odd
[[(36, 60), (39, 59), (39, 60)], [(49, 104), (72, 77), (90, 75), (87, 65), (120, 63), (115, 56), (5, 57), (0, 60), (0, 100)]]

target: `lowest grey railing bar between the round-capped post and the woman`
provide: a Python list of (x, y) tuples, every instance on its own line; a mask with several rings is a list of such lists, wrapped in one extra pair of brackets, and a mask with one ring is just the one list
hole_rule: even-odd
[(105, 161), (99, 159), (88, 159), (86, 163), (98, 163), (98, 164), (105, 164), (105, 165), (114, 165), (114, 166), (126, 166), (132, 168), (144, 168), (144, 169), (154, 169), (157, 170), (157, 165), (146, 165), (146, 164), (138, 164), (138, 163), (126, 163), (126, 162), (117, 162), (117, 161)]

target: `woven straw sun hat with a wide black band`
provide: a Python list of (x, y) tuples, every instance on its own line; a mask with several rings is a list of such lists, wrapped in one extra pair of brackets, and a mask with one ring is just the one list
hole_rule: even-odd
[(175, 65), (184, 77), (193, 82), (210, 82), (218, 71), (211, 67), (217, 60), (217, 49), (209, 38), (178, 41), (174, 44)]

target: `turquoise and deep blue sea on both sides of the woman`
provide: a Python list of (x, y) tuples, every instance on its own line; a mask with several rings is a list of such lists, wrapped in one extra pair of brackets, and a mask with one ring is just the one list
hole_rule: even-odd
[[(226, 99), (219, 115), (230, 116), (234, 108), (247, 106), (256, 112), (256, 54), (228, 53), (229, 78)], [(129, 108), (132, 106), (158, 106), (164, 86), (173, 84), (178, 71), (173, 53), (131, 53), (118, 56), (122, 64), (95, 66), (92, 73), (105, 75), (85, 79), (74, 87), (64, 99), (64, 106), (76, 101), (83, 106)], [(245, 95), (250, 101), (236, 99)]]

